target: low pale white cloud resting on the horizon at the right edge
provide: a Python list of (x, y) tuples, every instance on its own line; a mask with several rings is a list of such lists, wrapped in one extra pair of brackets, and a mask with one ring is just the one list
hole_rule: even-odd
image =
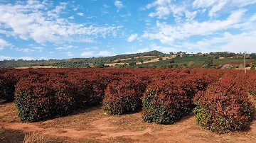
[(183, 42), (176, 47), (182, 50), (197, 52), (255, 52), (256, 31), (232, 35), (223, 33), (223, 36), (199, 40), (197, 42)]

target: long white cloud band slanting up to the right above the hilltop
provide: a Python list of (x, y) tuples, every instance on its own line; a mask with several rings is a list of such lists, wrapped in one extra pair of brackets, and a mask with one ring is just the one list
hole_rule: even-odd
[(156, 27), (159, 28), (158, 33), (145, 32), (142, 37), (149, 38), (150, 40), (158, 39), (162, 43), (171, 45), (174, 40), (184, 40), (190, 38), (192, 35), (212, 35), (219, 30), (235, 28), (234, 25), (241, 22), (244, 13), (245, 10), (238, 10), (230, 14), (223, 21), (203, 21), (201, 23), (193, 21), (176, 26), (156, 21)]

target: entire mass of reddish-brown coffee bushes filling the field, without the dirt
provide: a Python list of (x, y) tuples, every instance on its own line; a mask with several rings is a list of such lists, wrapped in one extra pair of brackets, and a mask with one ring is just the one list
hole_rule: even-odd
[(111, 115), (142, 110), (146, 122), (172, 124), (193, 112), (212, 132), (246, 127), (255, 71), (213, 69), (1, 69), (0, 99), (15, 96), (23, 122), (102, 103)]

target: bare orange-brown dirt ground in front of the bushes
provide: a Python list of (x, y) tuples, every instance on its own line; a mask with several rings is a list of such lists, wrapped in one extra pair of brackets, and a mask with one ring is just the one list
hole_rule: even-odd
[[(253, 99), (252, 99), (253, 100)], [(256, 121), (250, 129), (225, 135), (203, 130), (188, 115), (174, 125), (144, 122), (142, 113), (105, 115), (101, 106), (43, 122), (22, 123), (14, 103), (0, 105), (0, 142), (21, 142), (24, 132), (41, 132), (50, 142), (255, 142)]]

